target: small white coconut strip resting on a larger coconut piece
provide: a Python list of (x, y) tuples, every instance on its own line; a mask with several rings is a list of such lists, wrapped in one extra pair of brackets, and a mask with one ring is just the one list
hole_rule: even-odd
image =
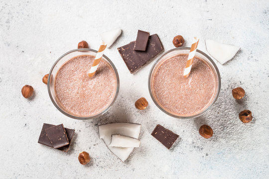
[(140, 147), (140, 141), (133, 137), (124, 136), (121, 134), (113, 134), (111, 136), (111, 143), (109, 147)]

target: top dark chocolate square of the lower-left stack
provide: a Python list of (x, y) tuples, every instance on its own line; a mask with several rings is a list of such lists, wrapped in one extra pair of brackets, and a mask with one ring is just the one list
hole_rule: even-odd
[(63, 124), (46, 128), (45, 131), (54, 149), (69, 144)]

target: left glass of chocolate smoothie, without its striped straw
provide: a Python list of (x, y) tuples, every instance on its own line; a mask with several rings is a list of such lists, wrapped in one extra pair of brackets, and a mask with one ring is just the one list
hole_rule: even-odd
[(109, 110), (118, 96), (119, 75), (107, 56), (103, 55), (95, 76), (89, 78), (96, 54), (92, 49), (72, 50), (61, 56), (49, 72), (50, 99), (69, 117), (98, 117)]

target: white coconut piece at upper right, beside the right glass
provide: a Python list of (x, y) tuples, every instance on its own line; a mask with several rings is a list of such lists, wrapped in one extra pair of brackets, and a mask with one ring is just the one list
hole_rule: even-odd
[(222, 65), (231, 60), (240, 47), (235, 45), (223, 44), (215, 40), (205, 40), (208, 53)]

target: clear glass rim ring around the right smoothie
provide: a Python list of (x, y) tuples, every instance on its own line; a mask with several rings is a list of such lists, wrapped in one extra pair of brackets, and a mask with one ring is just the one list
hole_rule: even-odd
[(196, 52), (200, 53), (201, 55), (205, 56), (210, 62), (211, 64), (209, 64), (211, 66), (211, 68), (214, 68), (214, 70), (216, 71), (216, 75), (217, 75), (217, 81), (218, 81), (218, 91), (214, 97), (214, 99), (212, 100), (211, 104), (207, 106), (207, 108), (205, 108), (204, 110), (202, 110), (200, 113), (198, 114), (195, 114), (195, 115), (191, 115), (191, 116), (180, 116), (180, 115), (174, 115), (168, 111), (166, 111), (164, 108), (162, 108), (158, 102), (156, 101), (156, 99), (154, 98), (153, 94), (152, 94), (152, 90), (151, 90), (151, 77), (152, 77), (152, 73), (154, 71), (154, 69), (156, 68), (156, 66), (158, 65), (158, 63), (162, 60), (162, 58), (167, 55), (168, 53), (170, 52), (173, 52), (173, 51), (177, 51), (177, 50), (190, 50), (190, 47), (178, 47), (178, 48), (173, 48), (171, 50), (168, 50), (166, 51), (165, 53), (163, 53), (155, 62), (154, 64), (152, 65), (151, 69), (150, 69), (150, 72), (149, 72), (149, 75), (148, 75), (148, 90), (149, 90), (149, 94), (150, 94), (150, 97), (151, 99), (153, 100), (153, 102), (155, 103), (155, 105), (164, 113), (172, 116), (172, 117), (175, 117), (175, 118), (179, 118), (179, 119), (191, 119), (191, 118), (195, 118), (195, 117), (198, 117), (200, 115), (202, 115), (203, 113), (205, 113), (208, 109), (210, 109), (210, 107), (216, 102), (219, 94), (220, 94), (220, 89), (221, 89), (221, 77), (220, 77), (220, 72), (219, 72), (219, 69), (217, 67), (217, 65), (215, 64), (215, 62), (204, 52), (202, 52), (201, 50), (196, 50)]

